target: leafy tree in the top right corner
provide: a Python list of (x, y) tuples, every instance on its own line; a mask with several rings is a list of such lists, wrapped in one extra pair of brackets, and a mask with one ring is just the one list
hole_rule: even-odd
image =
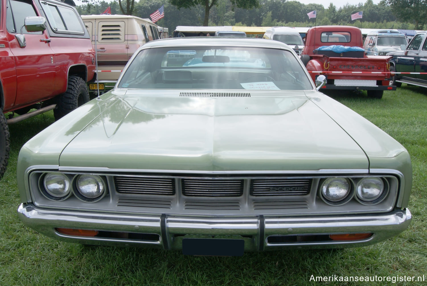
[(386, 3), (398, 20), (415, 24), (415, 29), (421, 29), (426, 24), (427, 0), (386, 0)]

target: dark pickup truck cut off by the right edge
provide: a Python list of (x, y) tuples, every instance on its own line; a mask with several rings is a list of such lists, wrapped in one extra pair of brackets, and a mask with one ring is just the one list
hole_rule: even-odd
[[(414, 86), (427, 87), (427, 31), (418, 32), (402, 50), (388, 53), (392, 56), (390, 70), (398, 74), (392, 78), (390, 84), (401, 86), (402, 83)], [(403, 73), (403, 74), (400, 74)]]

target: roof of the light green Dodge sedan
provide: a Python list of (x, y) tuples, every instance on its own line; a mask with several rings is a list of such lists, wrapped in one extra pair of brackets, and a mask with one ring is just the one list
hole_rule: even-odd
[(292, 50), (287, 44), (280, 41), (266, 40), (263, 38), (221, 38), (221, 37), (178, 37), (165, 38), (149, 41), (141, 48), (148, 47), (202, 47), (202, 46), (224, 46), (224, 47), (263, 47), (280, 48)]

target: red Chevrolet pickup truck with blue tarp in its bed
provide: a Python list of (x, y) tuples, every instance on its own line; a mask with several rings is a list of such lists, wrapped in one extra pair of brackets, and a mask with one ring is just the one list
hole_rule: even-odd
[(327, 77), (324, 89), (366, 90), (382, 98), (390, 83), (391, 56), (367, 56), (362, 32), (351, 26), (318, 26), (308, 29), (301, 61), (313, 80)]

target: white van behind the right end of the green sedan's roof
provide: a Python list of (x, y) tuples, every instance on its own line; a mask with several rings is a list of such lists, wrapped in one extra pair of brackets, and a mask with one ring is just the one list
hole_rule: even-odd
[(272, 27), (266, 30), (263, 38), (281, 41), (282, 43), (290, 45), (298, 56), (301, 56), (302, 50), (304, 49), (304, 41), (302, 41), (301, 35), (295, 28)]

